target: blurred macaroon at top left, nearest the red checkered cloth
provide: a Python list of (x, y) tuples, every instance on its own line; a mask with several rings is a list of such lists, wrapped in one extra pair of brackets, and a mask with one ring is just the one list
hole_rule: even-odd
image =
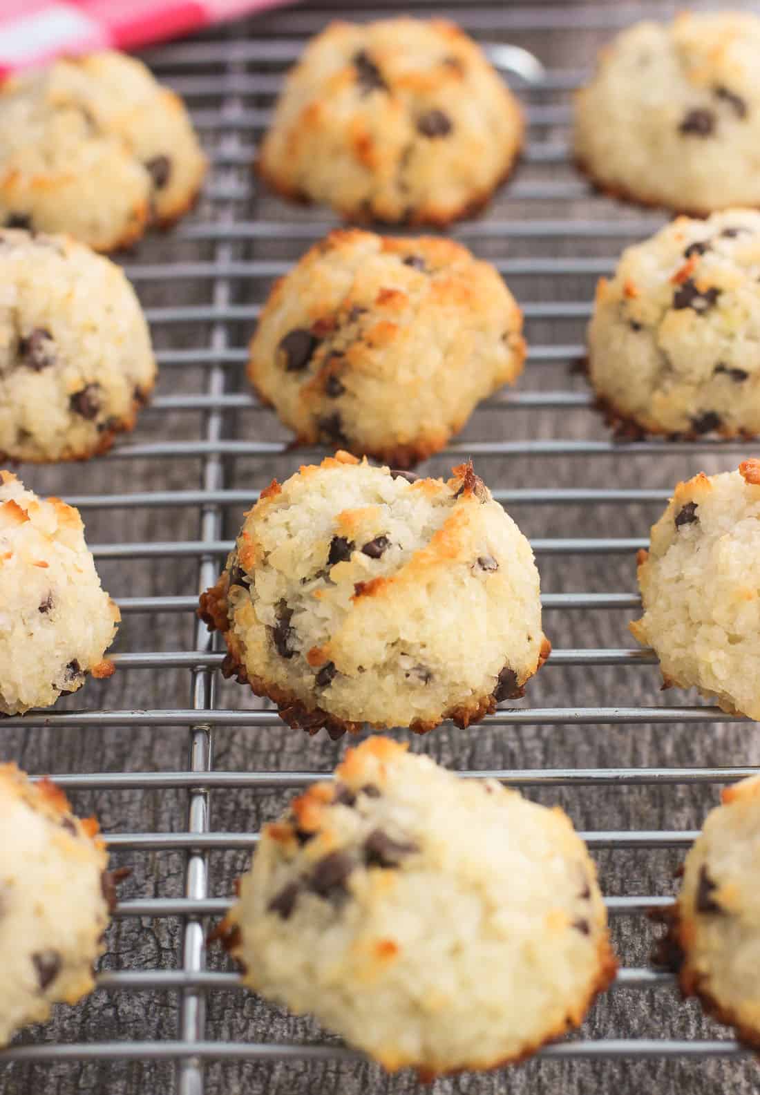
[(181, 217), (205, 171), (182, 100), (134, 57), (61, 58), (0, 88), (0, 222), (111, 251)]

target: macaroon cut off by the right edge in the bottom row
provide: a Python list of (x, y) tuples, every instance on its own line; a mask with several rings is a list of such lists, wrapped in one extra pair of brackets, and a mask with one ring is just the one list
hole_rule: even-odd
[(760, 776), (726, 787), (686, 858), (660, 948), (684, 995), (760, 1047)]

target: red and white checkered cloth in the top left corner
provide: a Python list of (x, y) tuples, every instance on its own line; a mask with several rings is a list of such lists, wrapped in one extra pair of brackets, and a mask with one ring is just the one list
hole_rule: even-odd
[(0, 0), (0, 72), (58, 54), (136, 49), (284, 0)]

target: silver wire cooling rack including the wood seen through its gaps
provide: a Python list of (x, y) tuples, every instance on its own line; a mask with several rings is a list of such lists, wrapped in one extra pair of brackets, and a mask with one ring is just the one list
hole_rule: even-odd
[[(269, 13), (147, 56), (186, 97), (212, 163), (194, 216), (125, 258), (158, 347), (159, 393), (135, 437), (107, 458), (22, 470), (35, 489), (84, 512), (104, 585), (124, 614), (119, 671), (51, 712), (3, 723), (4, 756), (51, 771), (78, 808), (94, 808), (114, 861), (135, 873), (97, 991), (0, 1054), (3, 1095), (43, 1083), (55, 1092), (148, 1086), (179, 1095), (245, 1084), (413, 1085), (382, 1076), (309, 1019), (244, 996), (237, 973), (205, 944), (208, 918), (229, 907), (261, 821), (344, 748), (301, 738), (220, 682), (222, 655), (193, 612), (242, 510), (273, 474), (283, 479), (310, 456), (288, 450), (241, 373), (272, 279), (333, 222), (324, 210), (260, 191), (250, 162), (285, 67), (308, 35), (347, 11)], [(505, 1083), (544, 1091), (555, 1082), (583, 1091), (590, 1081), (625, 1090), (621, 1061), (641, 1067), (636, 1084), (660, 1076), (683, 1092), (751, 1083), (741, 1048), (695, 1007), (678, 1005), (671, 976), (648, 965), (643, 914), (672, 901), (672, 867), (715, 802), (715, 785), (757, 771), (760, 758), (746, 722), (682, 695), (660, 698), (652, 653), (633, 649), (625, 629), (638, 608), (632, 557), (670, 487), (700, 468), (735, 466), (745, 446), (617, 443), (568, 368), (583, 353), (596, 278), (622, 246), (663, 223), (592, 196), (573, 172), (569, 93), (618, 25), (668, 12), (654, 3), (462, 3), (446, 12), (486, 43), (533, 51), (546, 71), (531, 84), (513, 81), (529, 120), (521, 168), (483, 218), (452, 232), (493, 261), (518, 297), (526, 374), (428, 466), (441, 473), (452, 458), (472, 456), (530, 534), (555, 648), (526, 701), (468, 731), (442, 727), (412, 748), (571, 812), (598, 857), (623, 966), (580, 1037), (508, 1077), (440, 1081), (440, 1091), (496, 1092)], [(379, 14), (360, 9), (360, 18)], [(699, 1072), (682, 1071), (695, 1057)]]

